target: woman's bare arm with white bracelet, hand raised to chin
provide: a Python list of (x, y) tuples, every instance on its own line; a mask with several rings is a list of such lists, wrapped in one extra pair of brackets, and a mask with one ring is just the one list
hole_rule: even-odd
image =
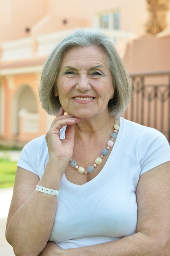
[[(17, 168), (13, 198), (7, 220), (6, 238), (17, 256), (37, 256), (49, 240), (55, 212), (56, 196), (35, 191), (37, 184), (60, 189), (60, 181), (73, 152), (74, 126), (79, 119), (64, 115), (61, 109), (46, 134), (49, 161), (41, 180), (37, 175)], [(60, 129), (66, 126), (65, 139)]]

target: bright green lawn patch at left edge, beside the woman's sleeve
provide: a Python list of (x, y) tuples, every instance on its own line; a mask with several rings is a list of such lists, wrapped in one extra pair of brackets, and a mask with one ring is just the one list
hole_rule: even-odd
[(17, 162), (0, 161), (0, 189), (13, 186), (16, 165)]

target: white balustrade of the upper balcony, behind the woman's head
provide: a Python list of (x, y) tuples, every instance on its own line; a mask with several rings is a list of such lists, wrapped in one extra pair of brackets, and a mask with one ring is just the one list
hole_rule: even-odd
[[(62, 38), (71, 34), (74, 30), (62, 30), (41, 36), (4, 42), (0, 45), (0, 61), (17, 61), (36, 56), (47, 56)], [(106, 29), (104, 32), (108, 37), (113, 39), (118, 47), (119, 42), (122, 44), (122, 40), (126, 44), (130, 38), (134, 37), (134, 34), (129, 31)]]

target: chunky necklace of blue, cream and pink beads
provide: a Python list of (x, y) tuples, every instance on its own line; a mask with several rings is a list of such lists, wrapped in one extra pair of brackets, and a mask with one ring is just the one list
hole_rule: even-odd
[(115, 118), (115, 125), (114, 125), (115, 130), (114, 130), (114, 132), (111, 133), (111, 139), (108, 141), (107, 147), (102, 150), (102, 155), (95, 159), (95, 164), (88, 166), (87, 170), (85, 170), (82, 166), (80, 166), (80, 167), (77, 166), (77, 162), (71, 158), (69, 160), (70, 165), (72, 167), (75, 167), (75, 169), (77, 169), (78, 173), (81, 173), (81, 174), (93, 173), (93, 171), (95, 170), (95, 167), (102, 163), (102, 158), (104, 156), (108, 155), (108, 150), (113, 147), (113, 145), (115, 143), (114, 139), (116, 139), (117, 132), (119, 130), (119, 125), (120, 125), (120, 117), (117, 117), (117, 118)]

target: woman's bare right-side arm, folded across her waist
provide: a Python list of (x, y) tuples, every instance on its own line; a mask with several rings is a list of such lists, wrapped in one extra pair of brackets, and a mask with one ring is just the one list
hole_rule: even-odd
[(169, 256), (170, 162), (144, 173), (137, 186), (137, 232), (99, 245), (62, 250), (54, 243), (40, 256)]

